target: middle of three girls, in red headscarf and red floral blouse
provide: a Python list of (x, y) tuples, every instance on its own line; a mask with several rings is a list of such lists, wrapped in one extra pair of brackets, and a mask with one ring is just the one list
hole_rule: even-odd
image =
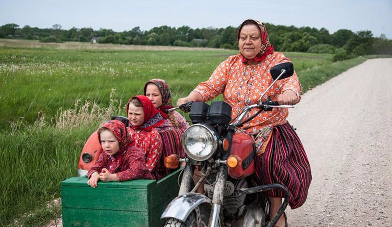
[(129, 135), (135, 140), (135, 146), (145, 152), (147, 169), (155, 179), (156, 169), (162, 155), (162, 138), (155, 127), (163, 124), (161, 113), (146, 96), (132, 97), (126, 106), (126, 112), (131, 124)]

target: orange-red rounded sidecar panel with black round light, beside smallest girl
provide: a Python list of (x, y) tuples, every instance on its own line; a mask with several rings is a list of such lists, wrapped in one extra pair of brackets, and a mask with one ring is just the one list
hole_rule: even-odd
[(82, 177), (86, 175), (90, 168), (98, 160), (101, 153), (102, 146), (98, 140), (98, 133), (95, 131), (84, 144), (83, 150), (80, 154), (79, 163), (77, 165), (77, 176)]

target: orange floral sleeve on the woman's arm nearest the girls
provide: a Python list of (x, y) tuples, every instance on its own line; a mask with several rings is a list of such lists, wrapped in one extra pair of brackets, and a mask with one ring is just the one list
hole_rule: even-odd
[(212, 73), (210, 78), (199, 83), (193, 92), (198, 92), (203, 97), (203, 102), (209, 101), (223, 93), (227, 83), (227, 74), (230, 68), (231, 57), (223, 61)]

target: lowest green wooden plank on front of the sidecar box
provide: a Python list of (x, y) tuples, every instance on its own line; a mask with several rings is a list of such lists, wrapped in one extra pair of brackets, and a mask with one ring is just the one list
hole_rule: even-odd
[[(63, 227), (158, 227), (148, 224), (148, 213), (63, 208)], [(152, 220), (160, 223), (158, 220)]]

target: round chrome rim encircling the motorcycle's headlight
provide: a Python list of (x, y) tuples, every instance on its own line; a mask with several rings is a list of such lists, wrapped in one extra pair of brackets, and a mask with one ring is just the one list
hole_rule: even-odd
[[(189, 151), (188, 150), (188, 147), (187, 147), (187, 144), (186, 144), (186, 135), (187, 135), (187, 132), (189, 131), (189, 130), (193, 130), (195, 127), (202, 127), (202, 128), (204, 128), (204, 129), (206, 129), (206, 131), (209, 133), (209, 136), (211, 137), (211, 139), (212, 139), (212, 142), (213, 142), (213, 144), (212, 144), (212, 149), (211, 149), (211, 151), (209, 151), (208, 152), (208, 154), (206, 154), (206, 155), (203, 155), (203, 156), (198, 156), (198, 155), (195, 155), (195, 154), (193, 154), (191, 151)], [(205, 160), (207, 160), (207, 159), (209, 159), (212, 155), (214, 155), (214, 153), (215, 153), (215, 151), (217, 150), (217, 148), (218, 148), (218, 143), (219, 143), (219, 137), (218, 137), (218, 133), (216, 132), (216, 130), (212, 127), (212, 126), (210, 126), (210, 125), (204, 125), (204, 124), (194, 124), (194, 125), (192, 125), (192, 126), (189, 126), (185, 131), (184, 131), (184, 133), (183, 133), (183, 136), (182, 136), (182, 147), (184, 148), (184, 152), (185, 152), (185, 154), (188, 156), (188, 157), (190, 157), (190, 158), (192, 158), (193, 160), (196, 160), (196, 161), (205, 161)]]

